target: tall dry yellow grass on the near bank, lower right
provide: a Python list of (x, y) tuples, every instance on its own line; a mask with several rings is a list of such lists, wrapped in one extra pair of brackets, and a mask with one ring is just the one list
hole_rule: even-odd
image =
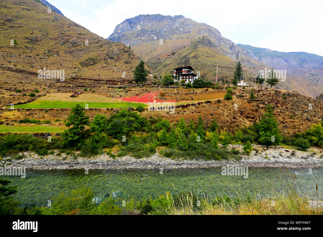
[[(172, 203), (168, 208), (168, 214), (175, 215), (316, 215), (323, 214), (318, 207), (318, 186), (316, 184), (316, 202), (311, 204), (310, 196), (304, 195), (300, 189), (296, 175), (286, 173), (280, 169), (283, 189), (275, 189), (275, 184), (267, 180), (272, 193), (265, 197), (257, 193), (238, 193), (234, 196), (211, 196), (208, 194), (201, 200), (192, 192), (167, 195)], [(265, 187), (266, 188), (266, 187)], [(313, 198), (312, 198), (313, 199)]]

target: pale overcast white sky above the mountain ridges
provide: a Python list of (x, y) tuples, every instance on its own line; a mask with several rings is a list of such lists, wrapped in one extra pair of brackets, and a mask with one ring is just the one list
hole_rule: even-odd
[(237, 44), (323, 56), (323, 1), (47, 0), (67, 18), (108, 38), (140, 14), (183, 15), (218, 29)]

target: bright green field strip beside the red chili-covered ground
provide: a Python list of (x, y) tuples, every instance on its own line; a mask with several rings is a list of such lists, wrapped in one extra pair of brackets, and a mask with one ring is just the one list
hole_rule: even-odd
[[(45, 108), (72, 108), (76, 104), (80, 104), (85, 107), (85, 104), (88, 104), (89, 108), (127, 108), (129, 106), (128, 102), (118, 102), (118, 103), (85, 103), (85, 102), (71, 102), (71, 101), (53, 101), (52, 103), (49, 100), (36, 100), (28, 104), (15, 105), (15, 109), (45, 109)], [(138, 105), (147, 107), (148, 105), (142, 103), (131, 103), (130, 106), (137, 108)], [(6, 107), (10, 108), (10, 106)]]

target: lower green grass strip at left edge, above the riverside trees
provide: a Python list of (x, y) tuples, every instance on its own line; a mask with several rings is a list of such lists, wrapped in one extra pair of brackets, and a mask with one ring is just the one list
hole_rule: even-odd
[(0, 133), (59, 133), (65, 126), (6, 126), (0, 125)]

